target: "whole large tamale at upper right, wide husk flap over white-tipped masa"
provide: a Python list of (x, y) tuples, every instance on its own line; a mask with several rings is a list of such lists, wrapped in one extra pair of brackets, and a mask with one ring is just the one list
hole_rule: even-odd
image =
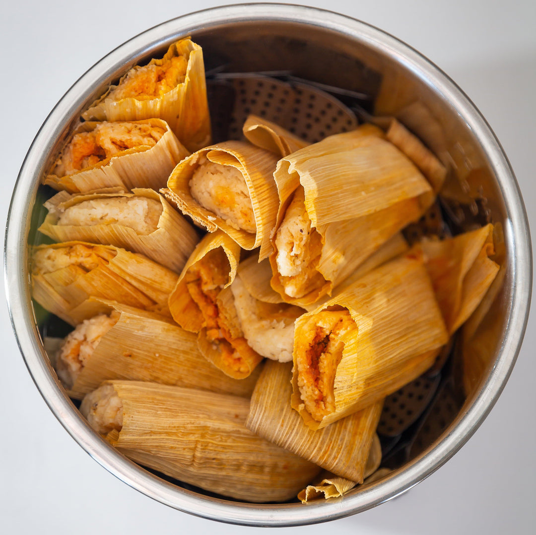
[[(271, 285), (286, 302), (303, 307), (330, 295), (434, 199), (426, 178), (372, 125), (280, 160), (274, 177), (280, 209)], [(294, 217), (300, 212), (300, 219), (291, 223), (287, 211)]]

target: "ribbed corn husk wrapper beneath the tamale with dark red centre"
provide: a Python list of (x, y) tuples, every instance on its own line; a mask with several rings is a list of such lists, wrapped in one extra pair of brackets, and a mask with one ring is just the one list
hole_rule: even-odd
[(337, 476), (361, 483), (383, 400), (312, 431), (291, 407), (292, 363), (266, 361), (251, 396), (246, 426)]

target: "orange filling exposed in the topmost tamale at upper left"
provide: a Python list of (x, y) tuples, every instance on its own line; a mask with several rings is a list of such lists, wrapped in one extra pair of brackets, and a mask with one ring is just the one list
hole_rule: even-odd
[(135, 67), (106, 95), (106, 99), (148, 100), (161, 96), (184, 82), (187, 67), (188, 59), (184, 56), (167, 59), (162, 65)]

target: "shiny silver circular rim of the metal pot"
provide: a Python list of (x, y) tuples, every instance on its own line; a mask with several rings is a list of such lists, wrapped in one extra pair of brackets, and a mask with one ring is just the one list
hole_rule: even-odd
[[(404, 468), (344, 500), (329, 500), (307, 508), (301, 504), (237, 503), (199, 495), (153, 476), (96, 436), (54, 379), (55, 372), (40, 343), (29, 292), (27, 208), (35, 200), (44, 164), (66, 121), (80, 111), (96, 87), (124, 67), (125, 58), (128, 61), (140, 57), (201, 28), (243, 21), (297, 22), (341, 33), (383, 54), (396, 55), (400, 64), (447, 100), (473, 131), (495, 170), (508, 214), (504, 233), (511, 274), (505, 281), (509, 282), (509, 320), (493, 369), (473, 403), (458, 415), (449, 433)], [(4, 279), (13, 331), (28, 371), (50, 410), (95, 461), (129, 486), (186, 513), (243, 525), (293, 526), (330, 521), (391, 500), (428, 477), (465, 444), (493, 408), (517, 359), (531, 300), (532, 253), (525, 207), (507, 156), (478, 109), (443, 71), (407, 44), (365, 22), (316, 7), (255, 3), (213, 7), (154, 26), (111, 51), (72, 85), (44, 121), (20, 169), (6, 225)]]

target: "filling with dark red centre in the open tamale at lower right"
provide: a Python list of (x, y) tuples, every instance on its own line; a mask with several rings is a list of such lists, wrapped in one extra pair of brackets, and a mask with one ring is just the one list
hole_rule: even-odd
[(298, 387), (307, 412), (317, 421), (336, 410), (333, 391), (337, 366), (343, 357), (343, 336), (355, 329), (347, 310), (315, 314), (296, 338)]

